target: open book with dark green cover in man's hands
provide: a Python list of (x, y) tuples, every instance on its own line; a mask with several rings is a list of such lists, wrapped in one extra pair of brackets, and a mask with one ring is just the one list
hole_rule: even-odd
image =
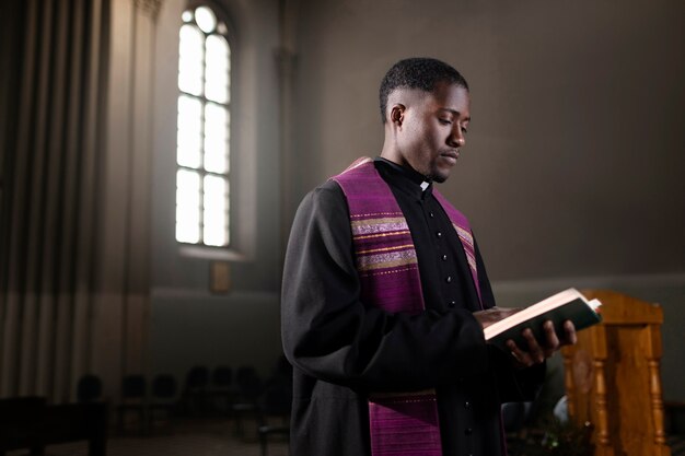
[(559, 337), (564, 335), (564, 321), (571, 320), (579, 331), (589, 326), (602, 321), (597, 300), (588, 301), (576, 289), (564, 290), (536, 304), (516, 312), (485, 328), (485, 340), (509, 351), (507, 340), (513, 339), (516, 344), (525, 350), (527, 342), (521, 332), (531, 328), (535, 339), (544, 340), (543, 325), (547, 320), (554, 323)]

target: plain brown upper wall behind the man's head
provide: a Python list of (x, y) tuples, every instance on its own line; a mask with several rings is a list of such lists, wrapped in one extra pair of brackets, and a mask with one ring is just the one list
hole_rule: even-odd
[(453, 63), (473, 122), (441, 187), (495, 280), (685, 270), (685, 3), (301, 1), (299, 195), (378, 154), (397, 59)]

